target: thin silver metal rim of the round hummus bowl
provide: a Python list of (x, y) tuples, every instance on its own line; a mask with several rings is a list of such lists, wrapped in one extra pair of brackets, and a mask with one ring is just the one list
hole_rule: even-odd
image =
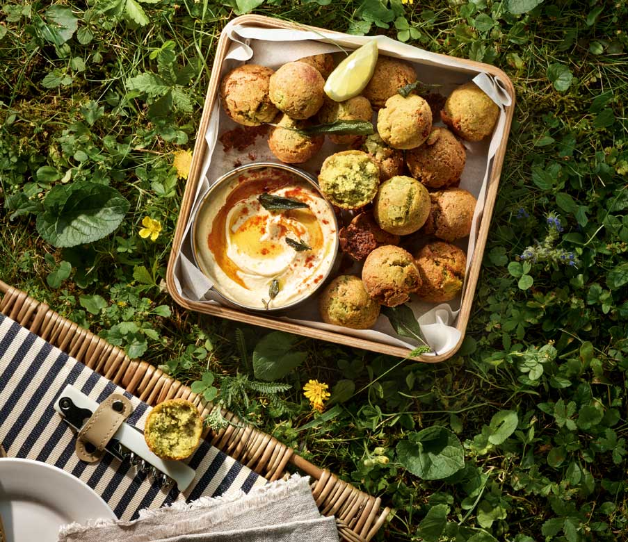
[[(318, 284), (316, 284), (316, 287), (312, 288), (312, 290), (310, 290), (307, 295), (303, 295), (303, 297), (300, 297), (299, 299), (296, 299), (295, 301), (286, 304), (286, 305), (282, 305), (282, 306), (277, 306), (277, 307), (269, 307), (268, 309), (264, 309), (264, 308), (260, 308), (260, 307), (255, 307), (255, 306), (248, 306), (245, 304), (242, 304), (239, 301), (236, 301), (236, 299), (233, 299), (232, 297), (230, 297), (227, 293), (224, 293), (223, 291), (220, 290), (220, 284), (217, 284), (218, 281), (216, 279), (216, 277), (213, 277), (211, 275), (211, 273), (209, 272), (209, 270), (207, 269), (207, 267), (204, 265), (203, 263), (203, 258), (200, 257), (200, 249), (199, 249), (199, 243), (200, 240), (198, 238), (198, 230), (200, 229), (200, 220), (202, 217), (202, 215), (204, 214), (204, 208), (207, 206), (208, 202), (211, 201), (212, 195), (215, 195), (216, 192), (218, 190), (220, 190), (220, 188), (222, 188), (225, 183), (229, 183), (230, 181), (232, 181), (234, 179), (234, 177), (241, 175), (243, 172), (248, 172), (248, 171), (252, 171), (252, 170), (259, 170), (259, 169), (263, 169), (263, 168), (271, 168), (271, 169), (275, 169), (275, 170), (284, 170), (284, 171), (288, 171), (291, 174), (293, 174), (298, 180), (300, 181), (305, 181), (305, 183), (308, 183), (310, 186), (312, 186), (312, 188), (314, 188), (314, 190), (321, 195), (321, 197), (323, 198), (323, 200), (328, 204), (330, 211), (331, 211), (331, 215), (333, 217), (333, 224), (335, 227), (335, 239), (334, 239), (334, 246), (332, 247), (332, 260), (331, 263), (329, 265), (328, 270), (326, 270), (325, 274), (323, 275), (323, 279), (321, 281), (319, 281)], [(214, 215), (212, 215), (213, 217)], [(243, 309), (245, 311), (254, 311), (254, 312), (264, 312), (264, 313), (268, 313), (268, 312), (273, 312), (276, 313), (277, 311), (286, 311), (287, 309), (292, 309), (293, 307), (297, 306), (298, 304), (301, 304), (303, 302), (305, 302), (307, 299), (309, 299), (310, 297), (312, 297), (312, 295), (314, 295), (314, 293), (316, 293), (316, 291), (319, 290), (319, 288), (321, 288), (321, 286), (323, 286), (323, 284), (325, 284), (325, 282), (327, 281), (330, 273), (332, 272), (332, 270), (335, 268), (335, 263), (337, 260), (337, 254), (338, 254), (338, 247), (339, 247), (339, 239), (338, 239), (338, 231), (339, 231), (339, 227), (338, 227), (338, 221), (337, 221), (337, 217), (336, 214), (334, 213), (334, 209), (332, 207), (332, 204), (330, 204), (330, 202), (328, 202), (327, 198), (325, 198), (325, 195), (323, 195), (323, 193), (321, 192), (318, 184), (316, 183), (316, 181), (314, 180), (314, 178), (307, 174), (306, 172), (302, 171), (302, 170), (298, 170), (296, 169), (296, 167), (291, 167), (289, 165), (284, 165), (284, 164), (277, 164), (277, 163), (273, 163), (273, 162), (259, 162), (259, 163), (253, 163), (253, 164), (247, 164), (247, 165), (242, 165), (240, 167), (236, 167), (234, 170), (231, 170), (230, 172), (225, 173), (223, 176), (218, 177), (218, 179), (216, 179), (216, 181), (207, 189), (207, 192), (204, 193), (204, 195), (201, 198), (201, 202), (198, 206), (198, 208), (196, 209), (195, 215), (193, 216), (192, 219), (192, 254), (193, 254), (193, 259), (194, 259), (194, 263), (196, 265), (196, 267), (207, 277), (209, 278), (212, 283), (214, 284), (214, 286), (212, 286), (212, 290), (214, 290), (214, 292), (221, 298), (224, 300), (225, 304), (227, 305), (231, 305), (234, 306), (236, 308), (239, 309)], [(211, 252), (211, 251), (209, 251)]]

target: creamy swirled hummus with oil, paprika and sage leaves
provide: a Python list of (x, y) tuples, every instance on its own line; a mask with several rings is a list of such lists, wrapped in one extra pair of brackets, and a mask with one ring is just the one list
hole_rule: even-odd
[[(264, 193), (307, 207), (268, 210), (258, 199)], [(220, 294), (250, 308), (278, 309), (307, 297), (335, 258), (337, 224), (330, 204), (314, 186), (279, 167), (251, 168), (220, 182), (197, 222), (201, 270)]]

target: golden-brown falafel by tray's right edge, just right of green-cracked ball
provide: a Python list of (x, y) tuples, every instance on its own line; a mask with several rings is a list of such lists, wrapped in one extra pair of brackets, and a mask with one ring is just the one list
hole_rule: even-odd
[(450, 243), (469, 235), (478, 202), (471, 192), (462, 188), (447, 188), (430, 193), (430, 199), (430, 213), (422, 233), (435, 235)]

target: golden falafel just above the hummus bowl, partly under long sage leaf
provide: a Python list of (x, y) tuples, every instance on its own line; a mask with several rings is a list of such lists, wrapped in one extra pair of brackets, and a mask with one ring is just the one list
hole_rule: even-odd
[(268, 147), (271, 152), (288, 164), (300, 164), (312, 158), (325, 141), (325, 136), (304, 136), (297, 131), (305, 127), (307, 121), (293, 120), (283, 115), (277, 126), (268, 136)]

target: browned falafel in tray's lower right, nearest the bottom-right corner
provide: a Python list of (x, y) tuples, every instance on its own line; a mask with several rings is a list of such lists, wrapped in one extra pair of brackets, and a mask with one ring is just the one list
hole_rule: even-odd
[(414, 259), (421, 274), (421, 301), (442, 303), (451, 301), (462, 290), (467, 255), (456, 245), (436, 241), (425, 245)]

